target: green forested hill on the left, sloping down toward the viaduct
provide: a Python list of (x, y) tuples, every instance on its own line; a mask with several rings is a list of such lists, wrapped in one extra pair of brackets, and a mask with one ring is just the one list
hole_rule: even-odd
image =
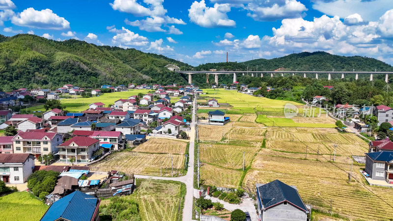
[(30, 34), (0, 35), (0, 88), (82, 87), (101, 84), (187, 83), (165, 66), (190, 65), (135, 49), (96, 46), (79, 40), (54, 41)]

